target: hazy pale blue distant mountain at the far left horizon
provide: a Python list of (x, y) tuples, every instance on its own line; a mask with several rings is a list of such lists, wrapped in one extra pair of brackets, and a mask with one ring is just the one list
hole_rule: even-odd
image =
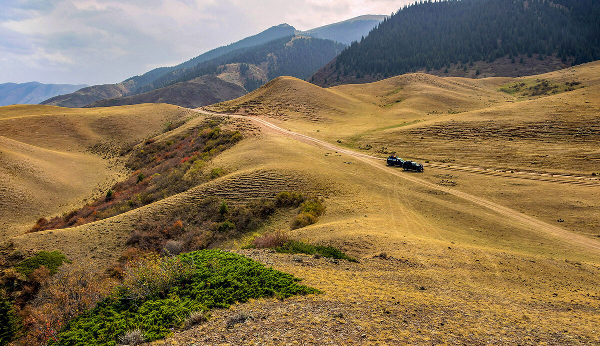
[(0, 84), (0, 106), (38, 104), (56, 95), (72, 93), (86, 87), (85, 84), (43, 84), (37, 81), (29, 83)]

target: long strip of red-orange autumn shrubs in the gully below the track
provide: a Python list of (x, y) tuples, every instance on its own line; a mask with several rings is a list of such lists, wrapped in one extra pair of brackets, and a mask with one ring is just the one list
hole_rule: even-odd
[(224, 174), (222, 168), (205, 173), (206, 162), (241, 139), (238, 131), (223, 131), (217, 122), (210, 122), (180, 136), (170, 145), (148, 140), (142, 147), (127, 146), (122, 154), (129, 153), (125, 166), (133, 171), (130, 177), (112, 186), (106, 196), (82, 208), (50, 220), (40, 218), (28, 232), (71, 227), (112, 217), (221, 176)]

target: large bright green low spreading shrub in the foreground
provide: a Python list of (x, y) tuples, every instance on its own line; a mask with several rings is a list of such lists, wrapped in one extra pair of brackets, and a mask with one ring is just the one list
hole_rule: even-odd
[(202, 250), (176, 258), (193, 266), (194, 273), (173, 283), (164, 292), (165, 299), (155, 295), (126, 299), (123, 290), (117, 290), (94, 309), (70, 321), (53, 344), (113, 346), (131, 327), (143, 330), (145, 341), (151, 342), (172, 335), (171, 328), (182, 326), (196, 311), (228, 308), (248, 299), (319, 293), (299, 285), (300, 279), (290, 274), (266, 268), (239, 254)]

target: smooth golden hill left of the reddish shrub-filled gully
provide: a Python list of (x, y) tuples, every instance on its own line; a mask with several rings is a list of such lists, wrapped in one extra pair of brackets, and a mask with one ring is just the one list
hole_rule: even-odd
[(122, 145), (189, 114), (170, 105), (0, 108), (0, 236), (23, 233), (39, 213), (59, 213), (106, 193), (122, 177)]

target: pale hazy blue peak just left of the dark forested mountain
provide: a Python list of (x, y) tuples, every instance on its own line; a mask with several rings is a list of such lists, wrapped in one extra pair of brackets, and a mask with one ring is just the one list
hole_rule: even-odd
[(319, 28), (299, 32), (300, 35), (325, 38), (339, 43), (351, 44), (367, 36), (369, 31), (381, 23), (388, 16), (380, 14), (367, 14), (343, 22), (319, 26)]

